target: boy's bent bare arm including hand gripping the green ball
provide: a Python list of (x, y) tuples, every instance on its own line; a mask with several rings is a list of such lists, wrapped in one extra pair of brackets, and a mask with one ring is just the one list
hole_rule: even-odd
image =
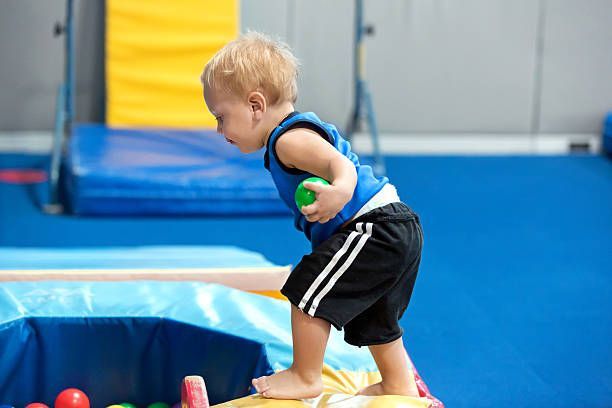
[(276, 155), (285, 166), (307, 171), (331, 183), (329, 186), (304, 183), (317, 197), (313, 204), (302, 207), (308, 221), (331, 220), (353, 197), (357, 185), (355, 165), (317, 133), (308, 129), (290, 130), (278, 139)]

